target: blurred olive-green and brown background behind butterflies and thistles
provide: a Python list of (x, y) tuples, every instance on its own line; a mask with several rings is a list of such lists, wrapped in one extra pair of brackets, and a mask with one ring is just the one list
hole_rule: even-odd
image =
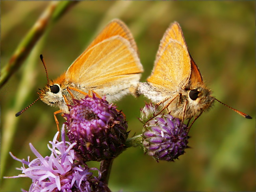
[[(15, 48), (50, 2), (1, 2), (1, 63)], [(57, 78), (113, 18), (132, 31), (149, 76), (160, 39), (173, 21), (182, 27), (189, 51), (213, 95), (250, 114), (247, 120), (215, 103), (202, 114), (189, 135), (190, 149), (175, 162), (157, 163), (141, 148), (129, 148), (113, 163), (109, 187), (113, 191), (254, 191), (255, 190), (255, 2), (253, 1), (83, 1), (54, 24), (21, 68), (0, 90), (1, 191), (29, 189), (28, 178), (2, 179), (20, 174), (20, 159), (31, 155), (28, 143), (43, 155), (56, 133), (53, 112), (41, 101), (20, 117), (15, 113), (32, 103), (46, 84), (39, 59), (43, 54), (50, 79)], [(140, 134), (137, 119), (145, 98), (126, 96), (117, 103), (128, 120), (130, 136)], [(62, 118), (58, 116), (60, 122)], [(3, 138), (4, 137), (4, 138)], [(91, 163), (90, 166), (98, 166)], [(15, 185), (14, 185), (15, 183)]]

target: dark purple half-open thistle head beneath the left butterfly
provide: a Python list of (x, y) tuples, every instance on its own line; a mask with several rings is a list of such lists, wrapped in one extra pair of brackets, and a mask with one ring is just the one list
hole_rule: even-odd
[(102, 161), (117, 157), (128, 137), (127, 122), (121, 111), (104, 98), (86, 96), (73, 100), (67, 118), (68, 137), (76, 142), (79, 161)]

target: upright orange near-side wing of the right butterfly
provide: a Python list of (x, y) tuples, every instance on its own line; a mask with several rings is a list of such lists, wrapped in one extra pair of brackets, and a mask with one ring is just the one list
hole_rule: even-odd
[(147, 81), (177, 90), (187, 84), (191, 74), (191, 59), (180, 25), (177, 22), (165, 32), (158, 49), (156, 61)]

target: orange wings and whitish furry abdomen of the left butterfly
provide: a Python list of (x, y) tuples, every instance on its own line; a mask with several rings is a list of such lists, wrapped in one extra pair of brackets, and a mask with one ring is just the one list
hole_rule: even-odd
[(100, 96), (123, 95), (136, 86), (141, 72), (143, 67), (130, 31), (121, 21), (114, 20), (72, 63), (65, 78)]

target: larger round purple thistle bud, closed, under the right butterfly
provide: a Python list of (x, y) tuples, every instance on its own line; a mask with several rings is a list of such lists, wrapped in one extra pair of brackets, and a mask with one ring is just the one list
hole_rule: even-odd
[(187, 148), (187, 127), (178, 118), (160, 114), (145, 124), (142, 134), (144, 152), (156, 161), (174, 161)]

